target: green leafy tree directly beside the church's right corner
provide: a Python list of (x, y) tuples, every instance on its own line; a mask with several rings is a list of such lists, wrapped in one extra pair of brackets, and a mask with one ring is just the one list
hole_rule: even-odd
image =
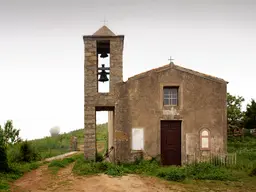
[(242, 111), (242, 102), (244, 98), (241, 96), (233, 96), (227, 93), (227, 118), (228, 127), (230, 129), (242, 128), (244, 125), (244, 112)]

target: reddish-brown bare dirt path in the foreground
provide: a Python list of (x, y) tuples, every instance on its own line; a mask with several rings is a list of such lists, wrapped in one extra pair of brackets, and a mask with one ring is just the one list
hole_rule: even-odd
[(14, 182), (12, 192), (165, 192), (184, 191), (181, 188), (170, 189), (167, 182), (156, 178), (143, 178), (137, 175), (109, 177), (107, 175), (79, 177), (72, 174), (73, 164), (53, 175), (47, 165), (25, 174)]

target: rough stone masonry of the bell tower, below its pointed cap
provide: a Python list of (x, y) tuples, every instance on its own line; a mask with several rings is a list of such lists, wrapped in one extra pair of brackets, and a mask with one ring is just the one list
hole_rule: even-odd
[[(117, 83), (122, 82), (122, 55), (123, 36), (94, 37), (85, 36), (85, 59), (84, 59), (84, 128), (86, 159), (95, 159), (96, 154), (96, 110), (113, 110), (116, 103), (114, 89)], [(110, 91), (98, 93), (97, 75), (97, 40), (110, 41)], [(115, 118), (114, 118), (115, 119)], [(114, 142), (114, 141), (113, 141)]]

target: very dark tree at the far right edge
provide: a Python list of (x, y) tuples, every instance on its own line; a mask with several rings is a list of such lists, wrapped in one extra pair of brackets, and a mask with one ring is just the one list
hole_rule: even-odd
[(245, 127), (247, 129), (256, 128), (256, 102), (254, 99), (251, 103), (247, 104), (245, 111)]

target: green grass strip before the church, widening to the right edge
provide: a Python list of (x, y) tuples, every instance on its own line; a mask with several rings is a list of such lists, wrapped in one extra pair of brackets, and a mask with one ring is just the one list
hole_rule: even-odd
[(202, 187), (218, 185), (222, 188), (256, 190), (256, 137), (246, 136), (243, 139), (229, 139), (228, 152), (237, 153), (235, 166), (224, 167), (199, 163), (184, 167), (161, 167), (157, 161), (138, 161), (133, 164), (113, 165), (106, 162), (87, 162), (80, 158), (76, 161), (73, 172), (78, 175), (104, 173), (111, 176), (140, 174)]

